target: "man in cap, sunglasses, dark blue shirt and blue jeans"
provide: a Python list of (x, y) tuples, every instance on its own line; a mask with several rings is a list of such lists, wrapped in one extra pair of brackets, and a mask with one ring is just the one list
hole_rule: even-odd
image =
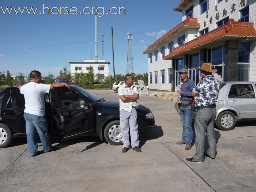
[(181, 69), (179, 72), (182, 80), (181, 89), (177, 92), (181, 94), (181, 106), (180, 106), (180, 117), (183, 127), (182, 140), (176, 144), (185, 144), (185, 150), (190, 150), (193, 140), (192, 130), (192, 90), (195, 87), (195, 83), (188, 78), (188, 69)]

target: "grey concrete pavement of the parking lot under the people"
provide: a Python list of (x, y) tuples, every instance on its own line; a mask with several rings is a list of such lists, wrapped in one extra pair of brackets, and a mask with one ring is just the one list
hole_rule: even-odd
[[(118, 101), (114, 91), (92, 91)], [(67, 142), (52, 139), (60, 150), (30, 157), (25, 139), (0, 149), (0, 186), (5, 191), (255, 191), (256, 122), (237, 123), (231, 131), (216, 129), (217, 157), (203, 163), (185, 161), (180, 118), (174, 102), (141, 95), (151, 109), (155, 128), (140, 135), (142, 153), (111, 146), (98, 136)], [(207, 147), (207, 146), (206, 146)], [(42, 147), (39, 147), (42, 150)]]

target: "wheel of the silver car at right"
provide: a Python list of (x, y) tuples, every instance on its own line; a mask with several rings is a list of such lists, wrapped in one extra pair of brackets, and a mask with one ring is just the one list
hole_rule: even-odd
[(223, 131), (229, 131), (233, 129), (236, 125), (236, 117), (230, 111), (225, 111), (219, 114), (216, 125), (219, 129)]

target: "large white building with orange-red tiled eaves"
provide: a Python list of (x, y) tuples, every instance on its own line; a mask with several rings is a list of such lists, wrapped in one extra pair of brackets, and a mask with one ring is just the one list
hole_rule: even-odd
[(173, 10), (182, 12), (182, 22), (143, 52), (149, 89), (176, 91), (182, 68), (197, 84), (195, 68), (206, 62), (223, 81), (256, 80), (255, 1), (181, 0)]

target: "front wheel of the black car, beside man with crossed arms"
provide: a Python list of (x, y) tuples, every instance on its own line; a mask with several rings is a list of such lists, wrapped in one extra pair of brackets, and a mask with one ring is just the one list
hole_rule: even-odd
[(123, 144), (119, 120), (112, 121), (105, 127), (104, 137), (106, 141), (112, 145)]

